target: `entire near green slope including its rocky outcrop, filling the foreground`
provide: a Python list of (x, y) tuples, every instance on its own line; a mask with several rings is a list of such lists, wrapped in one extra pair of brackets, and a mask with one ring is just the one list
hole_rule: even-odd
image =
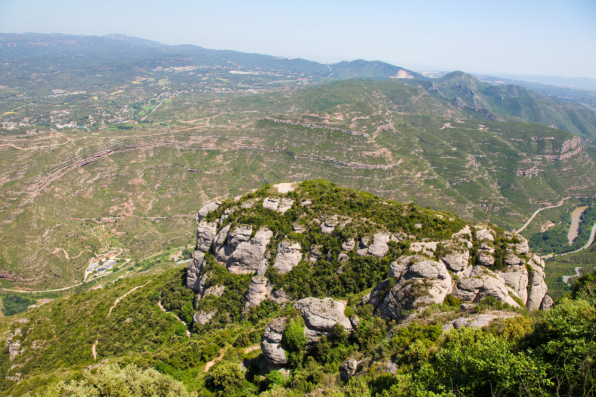
[(0, 319), (2, 392), (84, 385), (95, 379), (85, 368), (109, 362), (156, 368), (200, 396), (575, 395), (593, 384), (586, 291), (530, 312), (552, 301), (522, 236), (324, 180), (266, 185), (198, 216), (188, 268)]

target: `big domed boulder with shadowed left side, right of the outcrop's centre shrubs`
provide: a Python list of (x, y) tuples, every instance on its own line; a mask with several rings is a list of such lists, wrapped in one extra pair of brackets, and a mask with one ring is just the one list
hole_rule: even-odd
[(377, 307), (377, 312), (384, 318), (399, 320), (402, 311), (441, 304), (452, 292), (451, 276), (445, 264), (418, 255), (403, 256), (393, 262), (389, 277), (397, 282)]

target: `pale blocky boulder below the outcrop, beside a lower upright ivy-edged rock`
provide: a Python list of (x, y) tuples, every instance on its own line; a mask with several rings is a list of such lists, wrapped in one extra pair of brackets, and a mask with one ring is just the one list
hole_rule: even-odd
[(309, 330), (328, 333), (340, 323), (346, 331), (352, 331), (352, 323), (343, 313), (346, 305), (342, 302), (331, 298), (304, 298), (294, 304), (294, 309), (300, 312)]

